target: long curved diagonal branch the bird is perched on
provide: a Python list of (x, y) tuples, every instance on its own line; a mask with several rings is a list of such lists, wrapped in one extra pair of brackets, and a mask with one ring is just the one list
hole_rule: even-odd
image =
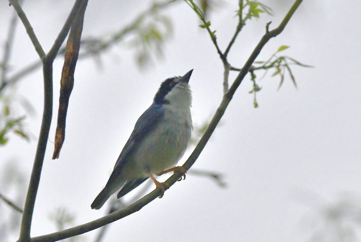
[[(197, 160), (200, 153), (203, 151), (203, 148), (205, 147), (206, 143), (208, 142), (210, 136), (212, 135), (213, 131), (216, 129), (216, 126), (218, 125), (219, 121), (221, 120), (223, 114), (226, 111), (226, 108), (228, 104), (230, 103), (235, 91), (237, 90), (238, 86), (242, 82), (242, 79), (245, 77), (245, 75), (248, 72), (248, 69), (251, 67), (251, 64), (253, 61), (255, 61), (256, 57), (260, 53), (262, 47), (265, 46), (265, 44), (270, 40), (271, 38), (277, 36), (282, 32), (284, 27), (287, 25), (288, 21), (292, 17), (293, 13), (295, 13), (296, 9), (299, 7), (299, 5), (302, 3), (302, 0), (296, 0), (295, 4), (293, 4), (292, 8), (287, 13), (284, 20), (281, 22), (281, 24), (272, 31), (266, 31), (266, 34), (262, 37), (260, 43), (256, 46), (255, 50), (252, 52), (252, 55), (249, 57), (247, 62), (245, 63), (244, 67), (242, 68), (240, 74), (235, 79), (234, 83), (232, 84), (230, 90), (223, 96), (222, 102), (217, 109), (216, 113), (214, 114), (212, 121), (210, 122), (207, 130), (205, 131), (203, 137), (200, 139), (199, 143), (197, 144), (196, 148), (186, 161), (184, 163), (183, 168), (188, 170)], [(166, 184), (169, 186), (172, 186), (179, 178), (182, 177), (182, 174), (175, 173), (170, 178), (168, 178)], [(69, 238), (75, 235), (83, 234), (86, 232), (89, 232), (91, 230), (100, 228), (101, 226), (104, 226), (106, 224), (109, 224), (111, 222), (117, 221), (119, 219), (122, 219), (123, 217), (126, 217), (132, 213), (135, 213), (142, 209), (145, 205), (152, 202), (152, 200), (155, 200), (160, 195), (161, 190), (155, 189), (148, 195), (145, 195), (143, 198), (139, 199), (135, 203), (132, 203), (126, 208), (123, 208), (117, 212), (114, 212), (110, 215), (101, 217), (100, 219), (88, 222), (83, 225), (75, 226), (70, 229), (62, 230), (56, 233), (47, 234), (39, 237), (34, 237), (31, 239), (31, 241), (58, 241), (61, 239)]]

